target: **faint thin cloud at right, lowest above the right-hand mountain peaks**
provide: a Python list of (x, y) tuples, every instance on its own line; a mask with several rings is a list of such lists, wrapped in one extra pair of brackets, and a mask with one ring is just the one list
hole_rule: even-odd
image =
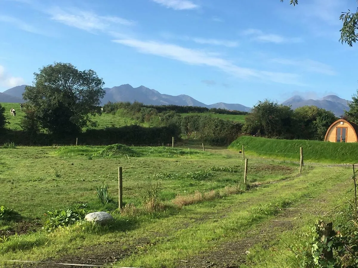
[(304, 60), (291, 60), (291, 59), (281, 59), (275, 58), (271, 59), (274, 63), (279, 63), (283, 65), (293, 65), (302, 68), (305, 71), (320, 73), (326, 75), (336, 75), (336, 71), (333, 70), (331, 66), (319, 61), (304, 59)]

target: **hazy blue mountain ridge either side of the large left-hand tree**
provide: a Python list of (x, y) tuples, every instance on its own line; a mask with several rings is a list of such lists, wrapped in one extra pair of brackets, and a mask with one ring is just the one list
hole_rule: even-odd
[[(5, 101), (0, 95), (0, 102), (23, 102), (22, 93), (25, 91), (26, 85), (15, 86), (14, 88), (5, 90), (6, 95), (17, 97), (14, 101)], [(113, 88), (104, 88), (106, 95), (101, 100), (102, 105), (108, 101), (139, 101), (146, 105), (180, 105), (180, 106), (199, 106), (206, 108), (221, 108), (227, 110), (250, 111), (251, 108), (241, 104), (227, 104), (227, 103), (214, 103), (207, 105), (188, 95), (172, 96), (168, 94), (161, 94), (155, 89), (149, 89), (145, 86), (133, 88), (129, 84), (114, 86)], [(5, 98), (4, 98), (5, 99)]]

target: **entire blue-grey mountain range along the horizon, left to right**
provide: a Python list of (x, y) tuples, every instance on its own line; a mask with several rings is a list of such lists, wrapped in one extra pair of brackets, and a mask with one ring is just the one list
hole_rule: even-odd
[[(11, 103), (21, 103), (24, 102), (22, 99), (22, 93), (25, 91), (26, 85), (15, 86), (5, 90), (3, 93), (0, 93), (0, 102), (11, 102)], [(227, 110), (237, 110), (237, 111), (250, 111), (251, 108), (241, 105), (241, 104), (230, 104), (230, 103), (214, 103), (214, 104), (204, 104), (188, 95), (178, 95), (172, 96), (167, 94), (161, 94), (155, 89), (149, 89), (145, 86), (139, 86), (133, 88), (129, 84), (114, 86), (113, 88), (104, 88), (106, 94), (103, 99), (101, 99), (101, 104), (106, 104), (108, 101), (117, 102), (117, 101), (139, 101), (144, 104), (153, 104), (153, 105), (180, 105), (180, 106), (199, 106), (206, 108), (221, 108)], [(314, 105), (318, 108), (323, 108), (329, 111), (332, 111), (336, 116), (341, 116), (344, 114), (344, 110), (349, 110), (348, 103), (352, 101), (339, 98), (336, 95), (328, 95), (318, 100), (313, 99), (304, 99), (303, 97), (296, 95), (290, 99), (285, 100), (283, 105), (291, 105), (292, 109), (296, 109), (305, 105)]]

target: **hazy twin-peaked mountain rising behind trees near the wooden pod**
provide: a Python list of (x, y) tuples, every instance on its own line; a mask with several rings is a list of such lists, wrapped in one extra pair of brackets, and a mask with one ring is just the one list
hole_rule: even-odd
[(299, 95), (295, 95), (287, 100), (285, 100), (283, 105), (291, 105), (291, 108), (294, 110), (298, 107), (305, 105), (314, 105), (318, 108), (323, 108), (328, 111), (332, 111), (335, 116), (341, 116), (344, 114), (344, 110), (349, 110), (348, 103), (351, 103), (350, 100), (345, 100), (339, 98), (336, 95), (328, 95), (318, 100), (313, 99), (304, 99)]

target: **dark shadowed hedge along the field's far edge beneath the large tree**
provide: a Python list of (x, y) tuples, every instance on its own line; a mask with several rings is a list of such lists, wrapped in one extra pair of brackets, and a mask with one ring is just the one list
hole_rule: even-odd
[(25, 131), (6, 130), (0, 136), (0, 144), (13, 142), (16, 145), (43, 145), (75, 144), (108, 145), (121, 143), (126, 145), (162, 145), (171, 144), (172, 137), (180, 137), (180, 129), (175, 126), (161, 126), (144, 128), (138, 125), (123, 126), (120, 128), (89, 129), (76, 136), (58, 137), (47, 133), (31, 135)]

